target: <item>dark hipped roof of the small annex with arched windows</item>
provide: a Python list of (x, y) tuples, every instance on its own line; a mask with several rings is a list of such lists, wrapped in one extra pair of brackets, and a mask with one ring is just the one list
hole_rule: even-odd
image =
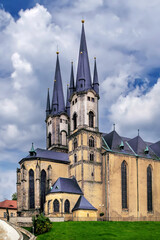
[(53, 184), (49, 193), (73, 193), (82, 195), (83, 192), (80, 189), (77, 180), (75, 178), (58, 178)]

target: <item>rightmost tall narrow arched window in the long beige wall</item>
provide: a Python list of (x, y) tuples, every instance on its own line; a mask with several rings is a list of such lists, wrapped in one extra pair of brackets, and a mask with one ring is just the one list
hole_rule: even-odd
[(151, 166), (147, 168), (147, 210), (151, 212), (152, 208), (152, 169)]

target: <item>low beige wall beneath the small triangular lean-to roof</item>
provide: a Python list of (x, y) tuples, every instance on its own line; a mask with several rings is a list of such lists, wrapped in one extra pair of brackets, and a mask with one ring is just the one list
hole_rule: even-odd
[(97, 221), (97, 211), (76, 210), (73, 212), (73, 221)]

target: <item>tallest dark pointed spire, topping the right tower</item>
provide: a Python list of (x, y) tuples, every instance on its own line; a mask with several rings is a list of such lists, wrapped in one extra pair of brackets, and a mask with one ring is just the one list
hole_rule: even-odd
[(82, 91), (81, 89), (82, 80), (85, 82), (84, 83), (85, 86), (83, 90), (92, 88), (88, 51), (87, 51), (86, 37), (85, 37), (85, 31), (84, 31), (84, 21), (82, 21), (82, 32), (81, 32), (79, 60), (78, 60), (78, 68), (77, 68), (77, 79), (76, 79), (77, 91)]

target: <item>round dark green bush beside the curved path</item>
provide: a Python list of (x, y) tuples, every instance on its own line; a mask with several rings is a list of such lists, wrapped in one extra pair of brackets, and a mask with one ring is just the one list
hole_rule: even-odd
[(52, 228), (51, 221), (43, 214), (39, 215), (38, 217), (33, 217), (32, 222), (34, 227), (34, 233), (37, 235), (49, 232)]

